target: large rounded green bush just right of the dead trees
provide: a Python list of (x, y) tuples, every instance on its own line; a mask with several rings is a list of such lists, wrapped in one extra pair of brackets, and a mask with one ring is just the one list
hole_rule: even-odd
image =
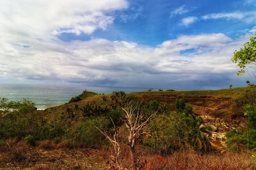
[(145, 131), (148, 135), (143, 143), (162, 155), (187, 146), (202, 152), (209, 151), (211, 145), (199, 128), (202, 120), (192, 114), (192, 108), (184, 101), (178, 100), (176, 106), (176, 113), (159, 115), (147, 125)]

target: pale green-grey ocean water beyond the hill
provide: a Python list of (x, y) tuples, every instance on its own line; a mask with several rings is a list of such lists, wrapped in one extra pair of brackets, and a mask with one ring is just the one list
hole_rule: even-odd
[(83, 90), (111, 94), (113, 91), (123, 90), (124, 92), (141, 92), (143, 88), (125, 87), (85, 87), (76, 85), (16, 85), (0, 84), (0, 98), (7, 98), (12, 101), (28, 99), (36, 104), (36, 108), (44, 110), (52, 106), (67, 103), (71, 97), (77, 96)]

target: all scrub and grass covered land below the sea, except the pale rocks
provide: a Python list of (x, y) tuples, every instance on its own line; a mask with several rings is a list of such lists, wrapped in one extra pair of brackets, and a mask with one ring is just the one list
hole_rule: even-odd
[[(2, 99), (0, 167), (115, 169), (118, 159), (119, 167), (128, 169), (241, 169), (241, 165), (242, 169), (253, 169), (255, 94), (254, 87), (111, 95), (84, 91), (70, 103), (45, 111), (36, 111), (35, 104), (29, 101)], [(205, 104), (198, 101), (210, 97), (232, 104), (232, 110), (227, 109), (230, 112), (221, 108), (222, 112), (218, 109), (212, 117), (246, 122), (246, 126), (227, 134), (230, 149), (221, 155), (207, 138), (212, 127), (203, 126), (204, 120), (199, 116), (202, 113), (196, 113), (200, 112), (196, 106)], [(230, 107), (227, 104), (223, 106)], [(133, 113), (130, 120), (125, 111)], [(131, 129), (127, 120), (134, 127), (145, 122), (140, 131), (134, 131), (139, 134), (132, 138), (134, 146), (129, 141)], [(137, 120), (140, 121), (134, 124)], [(133, 160), (128, 150), (134, 150)]]

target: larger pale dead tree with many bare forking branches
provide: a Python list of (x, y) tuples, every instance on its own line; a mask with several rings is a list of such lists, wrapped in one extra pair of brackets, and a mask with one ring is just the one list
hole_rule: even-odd
[(143, 134), (143, 127), (152, 121), (154, 115), (157, 113), (152, 113), (148, 118), (140, 110), (141, 103), (133, 103), (132, 101), (127, 103), (125, 108), (122, 108), (125, 112), (124, 122), (129, 131), (128, 145), (130, 148), (130, 154), (132, 159), (132, 169), (137, 169), (138, 158), (136, 157), (136, 141)]

